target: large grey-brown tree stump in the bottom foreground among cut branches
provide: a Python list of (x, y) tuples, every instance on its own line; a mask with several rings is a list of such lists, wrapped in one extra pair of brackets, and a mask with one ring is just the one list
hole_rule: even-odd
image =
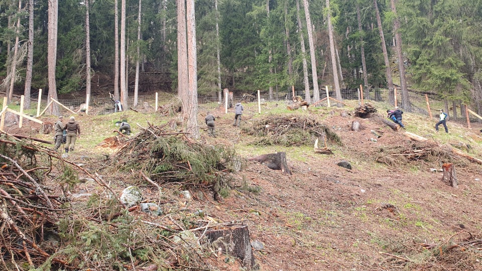
[(250, 243), (248, 225), (228, 225), (222, 228), (211, 228), (206, 237), (215, 249), (219, 249), (241, 259), (243, 265), (251, 270), (256, 262)]

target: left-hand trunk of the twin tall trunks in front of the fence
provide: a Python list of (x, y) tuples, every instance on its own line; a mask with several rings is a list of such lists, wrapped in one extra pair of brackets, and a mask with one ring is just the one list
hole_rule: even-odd
[(177, 93), (181, 99), (182, 111), (187, 117), (187, 34), (186, 34), (186, 4), (185, 0), (177, 0)]

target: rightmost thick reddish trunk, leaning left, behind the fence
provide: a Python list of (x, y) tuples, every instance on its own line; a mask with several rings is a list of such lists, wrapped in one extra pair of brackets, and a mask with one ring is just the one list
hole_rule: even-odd
[(410, 98), (408, 96), (408, 88), (407, 82), (405, 79), (405, 64), (404, 58), (402, 53), (402, 37), (400, 35), (400, 19), (397, 15), (396, 3), (395, 0), (390, 0), (390, 4), (392, 4), (392, 12), (395, 14), (395, 20), (393, 22), (393, 32), (395, 34), (395, 48), (397, 49), (397, 56), (398, 56), (398, 70), (400, 72), (400, 85), (402, 87), (402, 108), (407, 110), (408, 112), (412, 111), (412, 105), (410, 104)]

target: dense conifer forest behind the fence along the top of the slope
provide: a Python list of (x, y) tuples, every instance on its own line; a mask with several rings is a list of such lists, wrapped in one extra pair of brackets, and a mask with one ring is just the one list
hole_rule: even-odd
[(149, 74), (176, 92), (180, 4), (194, 7), (198, 95), (293, 87), (316, 102), (320, 86), (337, 98), (362, 86), (388, 89), (393, 104), (395, 85), (408, 111), (418, 91), (482, 113), (480, 0), (2, 0), (2, 91), (93, 85), (117, 98)]

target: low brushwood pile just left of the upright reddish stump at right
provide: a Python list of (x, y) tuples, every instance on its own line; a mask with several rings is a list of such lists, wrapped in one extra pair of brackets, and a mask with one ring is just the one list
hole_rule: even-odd
[(450, 147), (438, 146), (430, 142), (414, 142), (402, 141), (398, 146), (390, 146), (390, 148), (381, 148), (375, 153), (375, 161), (397, 167), (405, 165), (409, 162), (420, 163), (453, 163), (459, 161), (453, 155)]

